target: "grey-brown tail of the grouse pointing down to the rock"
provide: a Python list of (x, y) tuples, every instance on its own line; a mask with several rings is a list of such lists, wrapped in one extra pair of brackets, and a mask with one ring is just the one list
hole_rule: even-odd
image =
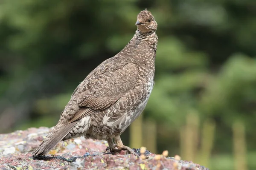
[(58, 124), (52, 129), (44, 141), (33, 151), (33, 156), (45, 156), (60, 142), (72, 129), (77, 122), (68, 123), (59, 126)]

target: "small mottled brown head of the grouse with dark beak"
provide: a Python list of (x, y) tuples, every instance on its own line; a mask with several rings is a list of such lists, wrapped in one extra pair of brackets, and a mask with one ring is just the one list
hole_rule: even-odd
[(138, 14), (135, 25), (142, 34), (157, 30), (157, 22), (147, 9)]

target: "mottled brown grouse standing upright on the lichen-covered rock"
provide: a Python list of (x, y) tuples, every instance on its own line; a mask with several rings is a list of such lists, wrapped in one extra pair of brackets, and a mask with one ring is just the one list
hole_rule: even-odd
[(33, 151), (45, 156), (59, 142), (84, 136), (106, 140), (111, 153), (125, 150), (120, 135), (145, 109), (154, 86), (157, 51), (157, 22), (147, 9), (140, 11), (137, 30), (128, 44), (114, 57), (96, 67), (77, 86), (60, 119)]

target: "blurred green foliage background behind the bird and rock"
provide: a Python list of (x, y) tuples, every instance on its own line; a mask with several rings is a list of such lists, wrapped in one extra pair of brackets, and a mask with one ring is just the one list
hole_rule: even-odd
[(144, 8), (158, 23), (155, 86), (124, 143), (255, 170), (255, 0), (1, 0), (0, 133), (54, 126)]

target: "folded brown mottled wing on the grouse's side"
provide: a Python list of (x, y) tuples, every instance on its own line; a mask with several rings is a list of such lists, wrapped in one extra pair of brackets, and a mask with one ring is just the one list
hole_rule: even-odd
[(69, 123), (110, 107), (135, 87), (137, 75), (138, 66), (126, 59), (114, 58), (99, 65), (79, 85), (81, 109)]

